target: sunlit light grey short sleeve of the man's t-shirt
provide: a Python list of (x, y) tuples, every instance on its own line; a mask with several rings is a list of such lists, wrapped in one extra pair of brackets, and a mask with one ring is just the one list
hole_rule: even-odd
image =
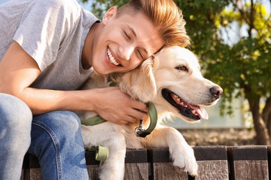
[(80, 10), (74, 1), (36, 0), (22, 15), (13, 37), (43, 71), (52, 64), (79, 22)]

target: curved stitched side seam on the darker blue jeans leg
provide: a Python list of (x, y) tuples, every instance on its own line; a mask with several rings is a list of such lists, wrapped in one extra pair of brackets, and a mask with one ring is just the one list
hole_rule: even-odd
[(56, 148), (56, 166), (57, 166), (57, 173), (58, 173), (58, 179), (61, 180), (62, 178), (62, 170), (61, 170), (61, 163), (60, 163), (60, 155), (59, 155), (59, 147), (58, 147), (58, 143), (56, 141), (56, 136), (54, 134), (53, 131), (51, 131), (51, 129), (49, 129), (46, 125), (44, 125), (43, 123), (40, 123), (37, 120), (33, 120), (32, 121), (32, 125), (37, 125), (39, 127), (41, 127), (42, 129), (44, 129), (49, 136), (51, 136), (52, 141), (54, 142), (55, 148)]

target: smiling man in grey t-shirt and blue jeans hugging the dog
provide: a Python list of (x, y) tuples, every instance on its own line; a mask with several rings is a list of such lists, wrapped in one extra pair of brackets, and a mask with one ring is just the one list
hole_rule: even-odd
[(0, 179), (19, 179), (27, 151), (42, 179), (88, 179), (72, 111), (119, 124), (147, 111), (117, 87), (77, 90), (90, 67), (124, 73), (163, 46), (189, 44), (172, 0), (133, 0), (101, 21), (74, 0), (13, 0), (0, 6), (0, 22)]

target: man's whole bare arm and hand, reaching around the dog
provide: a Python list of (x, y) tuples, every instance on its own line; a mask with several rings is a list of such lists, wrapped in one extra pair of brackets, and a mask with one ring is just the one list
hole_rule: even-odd
[[(13, 42), (0, 62), (0, 92), (16, 96), (31, 108), (34, 115), (48, 111), (96, 111), (115, 123), (142, 118), (147, 107), (131, 100), (117, 87), (84, 91), (55, 91), (29, 87), (40, 75), (38, 64), (24, 49)], [(140, 109), (137, 111), (136, 109)]]

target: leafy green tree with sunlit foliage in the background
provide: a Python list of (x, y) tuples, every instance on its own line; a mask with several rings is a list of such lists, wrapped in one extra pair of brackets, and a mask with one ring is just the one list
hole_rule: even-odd
[[(101, 17), (105, 9), (127, 1), (97, 0), (92, 8)], [(271, 17), (263, 2), (175, 0), (175, 3), (187, 21), (190, 49), (199, 56), (204, 76), (224, 89), (221, 113), (232, 114), (231, 100), (244, 97), (252, 113), (257, 143), (270, 144)]]

